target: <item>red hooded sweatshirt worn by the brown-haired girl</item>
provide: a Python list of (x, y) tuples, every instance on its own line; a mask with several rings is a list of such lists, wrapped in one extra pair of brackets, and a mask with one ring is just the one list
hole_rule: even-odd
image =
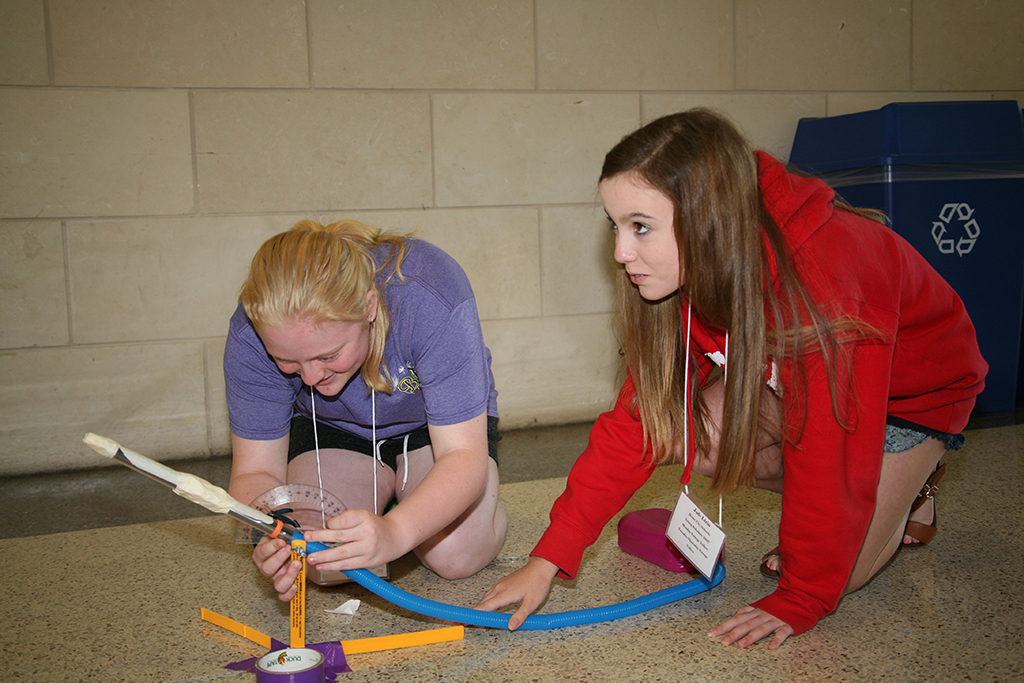
[[(959, 297), (906, 241), (837, 210), (835, 193), (820, 180), (757, 154), (765, 206), (817, 304), (882, 333), (853, 347), (852, 396), (841, 399), (847, 428), (836, 419), (820, 354), (806, 357), (806, 423), (782, 451), (782, 578), (774, 593), (754, 603), (800, 634), (836, 608), (853, 570), (874, 510), (887, 416), (959, 432), (988, 366)], [(700, 381), (711, 369), (707, 354), (726, 355), (725, 332), (694, 310), (690, 344)], [(780, 365), (779, 381), (792, 386), (791, 365)], [(575, 575), (584, 550), (653, 471), (641, 456), (634, 393), (628, 378), (613, 409), (597, 419), (531, 553), (557, 565), (559, 575)]]

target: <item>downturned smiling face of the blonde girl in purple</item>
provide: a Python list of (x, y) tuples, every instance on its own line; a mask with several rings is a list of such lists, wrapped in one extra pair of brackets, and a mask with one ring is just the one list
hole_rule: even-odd
[(298, 375), (322, 395), (341, 392), (370, 352), (370, 323), (377, 316), (377, 298), (366, 321), (311, 323), (292, 321), (259, 330), (267, 353), (286, 375)]

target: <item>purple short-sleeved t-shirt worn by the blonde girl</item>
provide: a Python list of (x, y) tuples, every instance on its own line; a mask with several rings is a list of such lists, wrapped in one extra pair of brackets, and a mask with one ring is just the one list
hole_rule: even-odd
[[(484, 411), (498, 417), (490, 352), (469, 279), (437, 247), (413, 239), (406, 246), (404, 281), (394, 276), (384, 289), (391, 314), (384, 362), (394, 386), (390, 394), (376, 392), (378, 439), (428, 423), (465, 422)], [(389, 253), (390, 247), (379, 247), (374, 259), (381, 263)], [(386, 276), (379, 273), (378, 282)], [(241, 304), (227, 332), (224, 380), (231, 432), (242, 438), (280, 438), (293, 415), (312, 415), (309, 387), (278, 369)], [(370, 439), (373, 407), (362, 377), (356, 374), (335, 396), (317, 393), (316, 420)]]

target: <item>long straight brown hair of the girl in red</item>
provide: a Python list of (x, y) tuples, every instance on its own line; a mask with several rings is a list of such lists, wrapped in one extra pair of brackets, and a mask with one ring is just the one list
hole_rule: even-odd
[[(734, 490), (754, 482), (756, 442), (762, 424), (766, 364), (786, 362), (792, 386), (780, 385), (785, 410), (806, 382), (804, 355), (823, 351), (833, 407), (841, 423), (836, 364), (841, 330), (811, 299), (793, 266), (781, 231), (768, 214), (750, 144), (724, 117), (696, 109), (663, 117), (627, 135), (605, 157), (601, 180), (631, 174), (668, 197), (685, 285), (659, 301), (647, 301), (625, 272), (617, 278), (617, 328), (624, 362), (637, 388), (634, 410), (650, 438), (656, 462), (670, 460), (682, 440), (686, 340), (682, 297), (712, 326), (729, 332), (729, 381), (725, 386), (718, 466), (713, 489)], [(777, 272), (770, 282), (769, 263)], [(777, 291), (776, 288), (777, 287)], [(692, 382), (697, 453), (711, 437), (707, 408)], [(787, 400), (787, 398), (791, 398)], [(797, 408), (799, 410), (799, 407)], [(793, 425), (790, 417), (783, 423)], [(802, 422), (796, 421), (802, 429)], [(781, 431), (782, 425), (779, 425)], [(791, 439), (798, 438), (790, 433)]]

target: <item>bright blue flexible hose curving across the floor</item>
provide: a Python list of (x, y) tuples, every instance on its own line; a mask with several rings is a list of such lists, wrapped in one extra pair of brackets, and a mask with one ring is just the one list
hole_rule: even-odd
[[(301, 535), (296, 533), (296, 538), (301, 538)], [(315, 553), (321, 550), (327, 550), (327, 548), (328, 546), (322, 543), (310, 541), (306, 545), (306, 552)], [(507, 613), (458, 607), (421, 598), (392, 586), (369, 569), (349, 569), (345, 574), (359, 586), (379, 595), (388, 602), (396, 604), (399, 607), (404, 607), (418, 614), (434, 616), (457, 624), (468, 624), (470, 626), (483, 626), (492, 629), (508, 628), (510, 614)], [(567, 626), (610, 622), (611, 620), (624, 616), (632, 616), (648, 609), (653, 609), (654, 607), (667, 605), (670, 602), (676, 602), (677, 600), (703, 593), (721, 584), (723, 579), (725, 579), (725, 565), (719, 562), (710, 580), (700, 577), (634, 600), (606, 605), (604, 607), (575, 609), (555, 614), (530, 614), (519, 628), (527, 631), (545, 631), (548, 629), (561, 629)]]

